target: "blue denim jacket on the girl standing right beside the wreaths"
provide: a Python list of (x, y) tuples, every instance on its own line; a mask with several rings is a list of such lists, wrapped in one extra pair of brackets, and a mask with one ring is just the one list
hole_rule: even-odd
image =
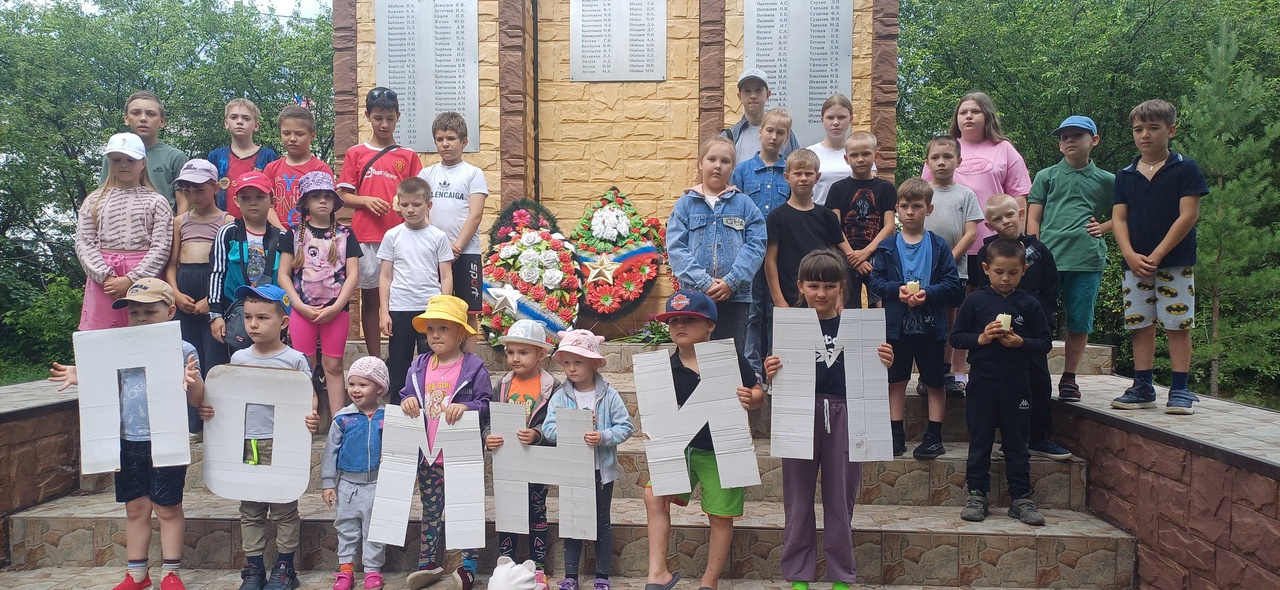
[(732, 186), (716, 209), (691, 188), (667, 219), (667, 255), (681, 287), (705, 292), (723, 279), (733, 289), (728, 301), (749, 303), (751, 279), (764, 264), (764, 215)]

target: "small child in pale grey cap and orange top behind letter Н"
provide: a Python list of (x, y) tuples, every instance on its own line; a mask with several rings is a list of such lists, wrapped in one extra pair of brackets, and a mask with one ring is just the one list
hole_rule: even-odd
[[(498, 384), (497, 403), (515, 403), (525, 407), (525, 427), (516, 433), (522, 444), (549, 445), (541, 434), (547, 419), (548, 402), (561, 383), (541, 367), (552, 344), (547, 342), (547, 330), (534, 320), (516, 320), (507, 335), (498, 338), (507, 349), (507, 366), (511, 372), (503, 375)], [(497, 434), (485, 436), (485, 447), (495, 450), (503, 439)], [(516, 559), (516, 545), (520, 543), (516, 532), (498, 532), (498, 553)], [(547, 590), (547, 486), (529, 484), (529, 557), (536, 566), (536, 589)], [(490, 582), (492, 585), (492, 582)]]

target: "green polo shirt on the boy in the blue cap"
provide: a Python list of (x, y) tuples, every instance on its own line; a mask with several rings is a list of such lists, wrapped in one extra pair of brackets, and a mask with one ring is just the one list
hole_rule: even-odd
[(1116, 177), (1093, 165), (1075, 169), (1062, 159), (1036, 173), (1028, 203), (1044, 206), (1039, 239), (1053, 253), (1057, 270), (1101, 273), (1107, 266), (1107, 246), (1084, 229), (1089, 218), (1107, 212)]

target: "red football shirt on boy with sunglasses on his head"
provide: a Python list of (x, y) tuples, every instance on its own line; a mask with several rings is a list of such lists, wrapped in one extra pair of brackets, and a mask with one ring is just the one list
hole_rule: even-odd
[(351, 216), (351, 229), (360, 243), (381, 242), (388, 229), (404, 221), (394, 210), (396, 189), (399, 188), (401, 180), (416, 177), (422, 170), (417, 152), (408, 147), (397, 147), (374, 161), (364, 179), (357, 179), (365, 164), (380, 151), (369, 143), (351, 146), (342, 161), (342, 175), (338, 177), (339, 188), (349, 188), (364, 197), (378, 197), (393, 206), (385, 215), (374, 215), (365, 207), (355, 210)]

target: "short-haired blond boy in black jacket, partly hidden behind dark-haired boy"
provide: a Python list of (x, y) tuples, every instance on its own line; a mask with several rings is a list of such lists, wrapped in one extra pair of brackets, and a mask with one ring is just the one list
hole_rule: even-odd
[[(987, 260), (987, 246), (1000, 238), (1016, 239), (1027, 248), (1027, 271), (1018, 288), (1025, 291), (1039, 302), (1044, 310), (1044, 321), (1053, 331), (1057, 325), (1055, 315), (1057, 311), (1059, 274), (1053, 253), (1041, 243), (1036, 235), (1021, 233), (1025, 210), (1018, 206), (1018, 201), (1009, 195), (992, 195), (983, 209), (987, 227), (996, 232), (988, 237), (982, 248), (978, 250), (978, 260)], [(969, 284), (983, 288), (991, 284), (987, 275), (973, 276)], [(1037, 356), (1030, 367), (1032, 385), (1032, 427), (1030, 439), (1027, 447), (1036, 457), (1048, 457), (1057, 461), (1068, 461), (1071, 452), (1048, 438), (1052, 426), (1052, 413), (1050, 398), (1053, 397), (1053, 380), (1048, 374), (1048, 356)], [(1065, 401), (1065, 399), (1064, 399)]]

